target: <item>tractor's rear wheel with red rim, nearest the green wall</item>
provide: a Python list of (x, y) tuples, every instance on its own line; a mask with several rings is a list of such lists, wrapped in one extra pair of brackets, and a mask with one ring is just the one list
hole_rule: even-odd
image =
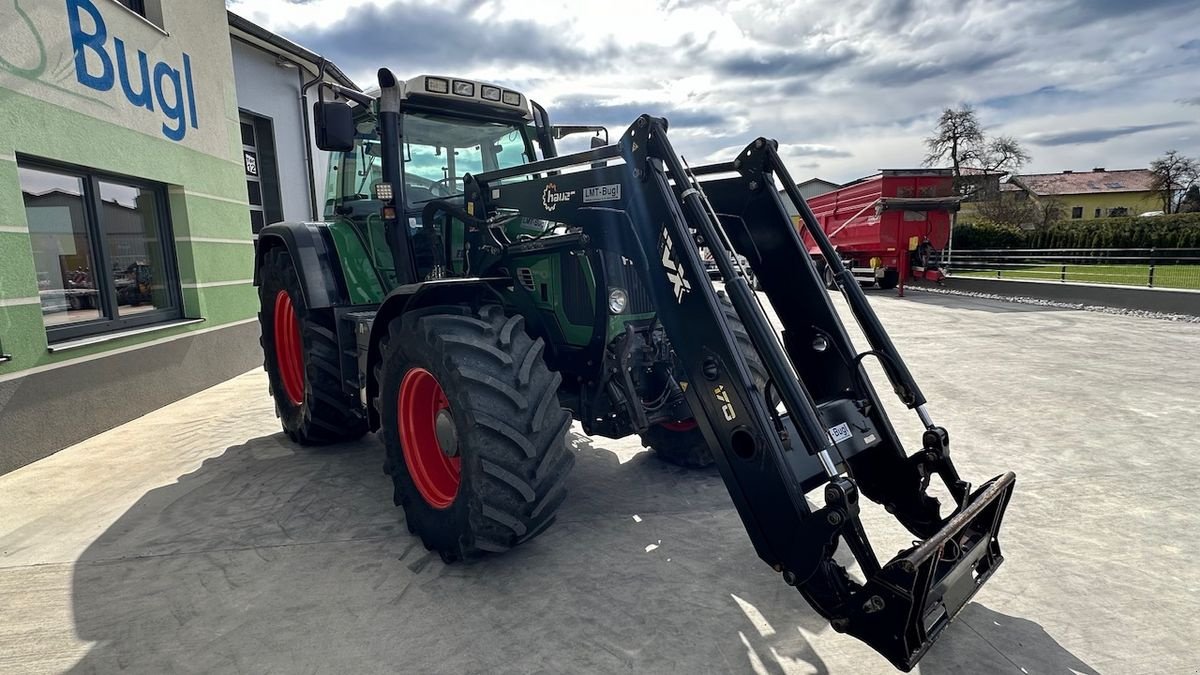
[(305, 446), (360, 438), (367, 431), (366, 411), (342, 389), (332, 315), (305, 305), (287, 249), (268, 251), (260, 273), (258, 340), (283, 431)]

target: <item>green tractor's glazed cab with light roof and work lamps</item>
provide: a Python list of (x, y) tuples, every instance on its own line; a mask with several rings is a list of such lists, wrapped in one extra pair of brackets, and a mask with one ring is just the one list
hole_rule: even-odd
[[(324, 219), (366, 243), (384, 289), (433, 271), (427, 249), (436, 238), (422, 233), (426, 204), (461, 197), (467, 175), (536, 161), (535, 141), (542, 156), (554, 154), (550, 135), (534, 124), (534, 108), (517, 91), (437, 76), (398, 84), (391, 156), (379, 133), (378, 89), (361, 95), (337, 88), (342, 100), (314, 107), (318, 145), (330, 150)], [(395, 177), (386, 175), (388, 165)], [(395, 233), (385, 231), (389, 215), (397, 223)], [(415, 279), (396, 271), (390, 243), (396, 239), (416, 258)], [(458, 255), (451, 255), (449, 267), (462, 269), (462, 247), (451, 241), (450, 250)]]

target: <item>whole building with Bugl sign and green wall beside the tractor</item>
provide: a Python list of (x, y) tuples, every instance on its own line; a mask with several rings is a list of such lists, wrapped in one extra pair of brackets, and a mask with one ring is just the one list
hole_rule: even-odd
[(221, 0), (0, 17), (4, 473), (262, 362), (256, 227), (319, 210), (304, 104), (350, 83)]

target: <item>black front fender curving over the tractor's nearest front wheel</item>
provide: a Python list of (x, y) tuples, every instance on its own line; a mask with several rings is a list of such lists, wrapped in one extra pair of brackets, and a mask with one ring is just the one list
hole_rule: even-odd
[(473, 304), (482, 298), (503, 304), (499, 291), (511, 287), (512, 280), (508, 276), (472, 276), (464, 279), (439, 279), (434, 281), (422, 281), (419, 283), (407, 283), (396, 287), (384, 298), (371, 322), (371, 336), (367, 348), (366, 364), (359, 362), (360, 377), (366, 378), (367, 426), (372, 431), (379, 429), (379, 411), (372, 405), (379, 393), (379, 382), (376, 381), (376, 363), (382, 358), (379, 353), (379, 341), (388, 334), (388, 324), (397, 316), (420, 307), (432, 305), (461, 305)]

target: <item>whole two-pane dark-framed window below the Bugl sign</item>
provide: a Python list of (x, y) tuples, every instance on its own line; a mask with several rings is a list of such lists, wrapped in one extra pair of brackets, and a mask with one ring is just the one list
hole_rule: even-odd
[(52, 341), (179, 316), (161, 186), (18, 166)]

